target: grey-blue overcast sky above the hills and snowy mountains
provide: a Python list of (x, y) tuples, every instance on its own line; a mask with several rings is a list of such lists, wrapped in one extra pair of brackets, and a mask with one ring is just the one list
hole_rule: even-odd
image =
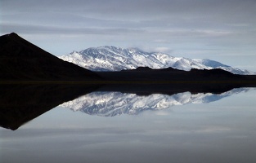
[(1, 0), (0, 23), (53, 55), (136, 46), (256, 72), (256, 0)]

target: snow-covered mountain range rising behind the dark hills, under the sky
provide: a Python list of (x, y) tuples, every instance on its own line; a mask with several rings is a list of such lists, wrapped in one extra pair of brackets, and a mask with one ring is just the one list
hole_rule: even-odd
[(173, 57), (159, 52), (146, 52), (138, 48), (123, 49), (115, 46), (91, 47), (83, 51), (73, 51), (69, 55), (60, 56), (65, 61), (77, 64), (92, 71), (120, 71), (137, 67), (177, 68), (185, 71), (191, 68), (222, 68), (235, 74), (249, 74), (247, 70), (232, 68), (209, 59), (188, 59)]

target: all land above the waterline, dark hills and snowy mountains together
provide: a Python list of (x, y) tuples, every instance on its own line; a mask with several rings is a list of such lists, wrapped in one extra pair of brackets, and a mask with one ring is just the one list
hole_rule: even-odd
[[(60, 59), (26, 41), (16, 33), (3, 35), (0, 37), (1, 82), (79, 81), (100, 85), (134, 84), (137, 82), (190, 82), (191, 84), (214, 82), (218, 84), (236, 83), (239, 86), (243, 83), (243, 86), (250, 86), (256, 81), (255, 75), (237, 75), (227, 72), (223, 68), (241, 73), (236, 68), (216, 61), (177, 58), (162, 53), (146, 53), (136, 48), (122, 49), (115, 46), (101, 46), (74, 52), (67, 55), (67, 58), (70, 59), (70, 56), (73, 55), (79, 58), (73, 59), (74, 63), (82, 60), (83, 65), (92, 66), (88, 69), (82, 68), (76, 65), (78, 63), (73, 64)], [(162, 68), (163, 66), (164, 68)], [(110, 71), (110, 69), (123, 71)]]

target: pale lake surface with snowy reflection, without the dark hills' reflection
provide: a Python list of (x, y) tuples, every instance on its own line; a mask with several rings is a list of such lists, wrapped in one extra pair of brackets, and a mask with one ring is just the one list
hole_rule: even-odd
[(255, 106), (255, 88), (92, 92), (0, 128), (0, 162), (256, 162)]

